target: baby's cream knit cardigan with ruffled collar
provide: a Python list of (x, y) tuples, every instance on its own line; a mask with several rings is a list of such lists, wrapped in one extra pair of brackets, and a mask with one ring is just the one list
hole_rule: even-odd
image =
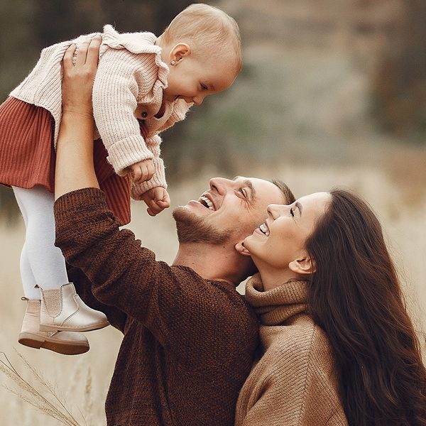
[[(78, 46), (97, 34), (80, 35), (43, 49), (34, 69), (11, 92), (12, 97), (50, 111), (55, 119), (55, 147), (62, 116), (63, 55), (72, 43)], [(153, 33), (119, 34), (107, 25), (100, 35), (102, 45), (93, 87), (93, 113), (99, 133), (94, 138), (101, 136), (109, 163), (118, 174), (138, 161), (154, 160), (154, 177), (132, 188), (132, 197), (140, 200), (141, 194), (152, 187), (166, 187), (158, 133), (185, 119), (192, 104), (183, 99), (166, 102), (163, 116), (155, 117), (168, 84), (169, 68), (161, 60), (161, 48), (155, 45), (157, 38)], [(138, 119), (145, 120), (145, 140)]]

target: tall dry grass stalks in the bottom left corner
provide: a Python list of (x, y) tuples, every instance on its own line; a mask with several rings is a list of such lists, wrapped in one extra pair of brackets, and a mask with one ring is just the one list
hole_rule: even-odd
[[(31, 373), (31, 376), (35, 379), (34, 385), (23, 378), (21, 373), (19, 373), (11, 364), (11, 361), (9, 361), (8, 356), (4, 352), (0, 352), (0, 354), (2, 354), (6, 360), (4, 361), (0, 359), (0, 371), (4, 373), (4, 375), (16, 386), (16, 388), (9, 388), (7, 386), (4, 386), (4, 388), (18, 396), (18, 398), (21, 398), (21, 400), (32, 405), (38, 410), (38, 412), (55, 418), (62, 425), (82, 426), (82, 424), (78, 422), (72, 414), (72, 410), (67, 407), (65, 400), (60, 398), (60, 395), (58, 395), (58, 387), (45, 380), (41, 373), (31, 366), (31, 364), (18, 351), (16, 351), (16, 354), (18, 354), (29, 373)], [(89, 374), (88, 377), (89, 378), (87, 378), (86, 383), (86, 393), (88, 395), (85, 395), (87, 399), (90, 397), (92, 383), (91, 374)], [(88, 406), (88, 408), (91, 407), (92, 405)], [(84, 415), (82, 415), (81, 412), (80, 415), (84, 422), (83, 425), (87, 426), (87, 421), (85, 420)]]

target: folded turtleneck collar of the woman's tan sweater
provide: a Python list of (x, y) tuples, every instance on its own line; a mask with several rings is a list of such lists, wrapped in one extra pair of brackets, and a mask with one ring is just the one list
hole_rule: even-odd
[(263, 291), (259, 274), (246, 283), (246, 300), (263, 325), (285, 324), (290, 317), (305, 312), (306, 299), (306, 281), (289, 280), (268, 291)]

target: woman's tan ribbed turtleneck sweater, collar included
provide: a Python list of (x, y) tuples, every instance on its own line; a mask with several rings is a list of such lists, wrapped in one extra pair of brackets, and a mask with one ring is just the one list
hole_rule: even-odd
[(263, 356), (241, 389), (235, 425), (347, 425), (327, 336), (306, 312), (305, 281), (263, 291), (255, 275), (246, 300), (261, 319)]

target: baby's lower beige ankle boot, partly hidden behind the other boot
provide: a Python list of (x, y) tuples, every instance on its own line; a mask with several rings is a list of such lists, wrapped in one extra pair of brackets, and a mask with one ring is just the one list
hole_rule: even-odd
[(40, 332), (40, 300), (26, 300), (27, 307), (18, 342), (35, 349), (48, 349), (58, 354), (84, 354), (90, 349), (89, 342), (81, 333), (75, 332)]

